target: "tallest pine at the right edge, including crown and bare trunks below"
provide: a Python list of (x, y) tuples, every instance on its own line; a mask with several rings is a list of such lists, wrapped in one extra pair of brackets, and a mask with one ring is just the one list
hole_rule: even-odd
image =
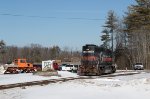
[(124, 23), (133, 63), (142, 62), (149, 68), (150, 0), (136, 0), (136, 2), (136, 5), (129, 6)]

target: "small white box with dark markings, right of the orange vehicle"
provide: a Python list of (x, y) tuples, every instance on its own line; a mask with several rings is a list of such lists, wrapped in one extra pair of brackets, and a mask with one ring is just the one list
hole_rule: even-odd
[(42, 71), (54, 70), (53, 62), (55, 60), (46, 60), (42, 61)]

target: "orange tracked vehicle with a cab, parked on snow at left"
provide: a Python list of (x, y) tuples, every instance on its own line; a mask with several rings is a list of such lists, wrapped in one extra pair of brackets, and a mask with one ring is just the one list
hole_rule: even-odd
[(36, 68), (33, 67), (33, 64), (27, 62), (27, 60), (24, 58), (15, 59), (12, 64), (6, 65), (5, 68), (5, 74), (31, 73), (36, 71)]

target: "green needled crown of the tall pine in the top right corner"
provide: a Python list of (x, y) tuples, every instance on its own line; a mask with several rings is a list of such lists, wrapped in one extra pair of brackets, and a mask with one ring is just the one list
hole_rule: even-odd
[(129, 32), (150, 28), (150, 0), (136, 0), (137, 5), (129, 6), (125, 24)]

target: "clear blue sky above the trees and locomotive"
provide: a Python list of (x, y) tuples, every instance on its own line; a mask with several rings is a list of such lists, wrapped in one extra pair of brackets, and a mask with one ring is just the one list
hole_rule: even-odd
[(134, 0), (0, 0), (0, 40), (6, 45), (100, 45), (109, 10), (122, 17)]

